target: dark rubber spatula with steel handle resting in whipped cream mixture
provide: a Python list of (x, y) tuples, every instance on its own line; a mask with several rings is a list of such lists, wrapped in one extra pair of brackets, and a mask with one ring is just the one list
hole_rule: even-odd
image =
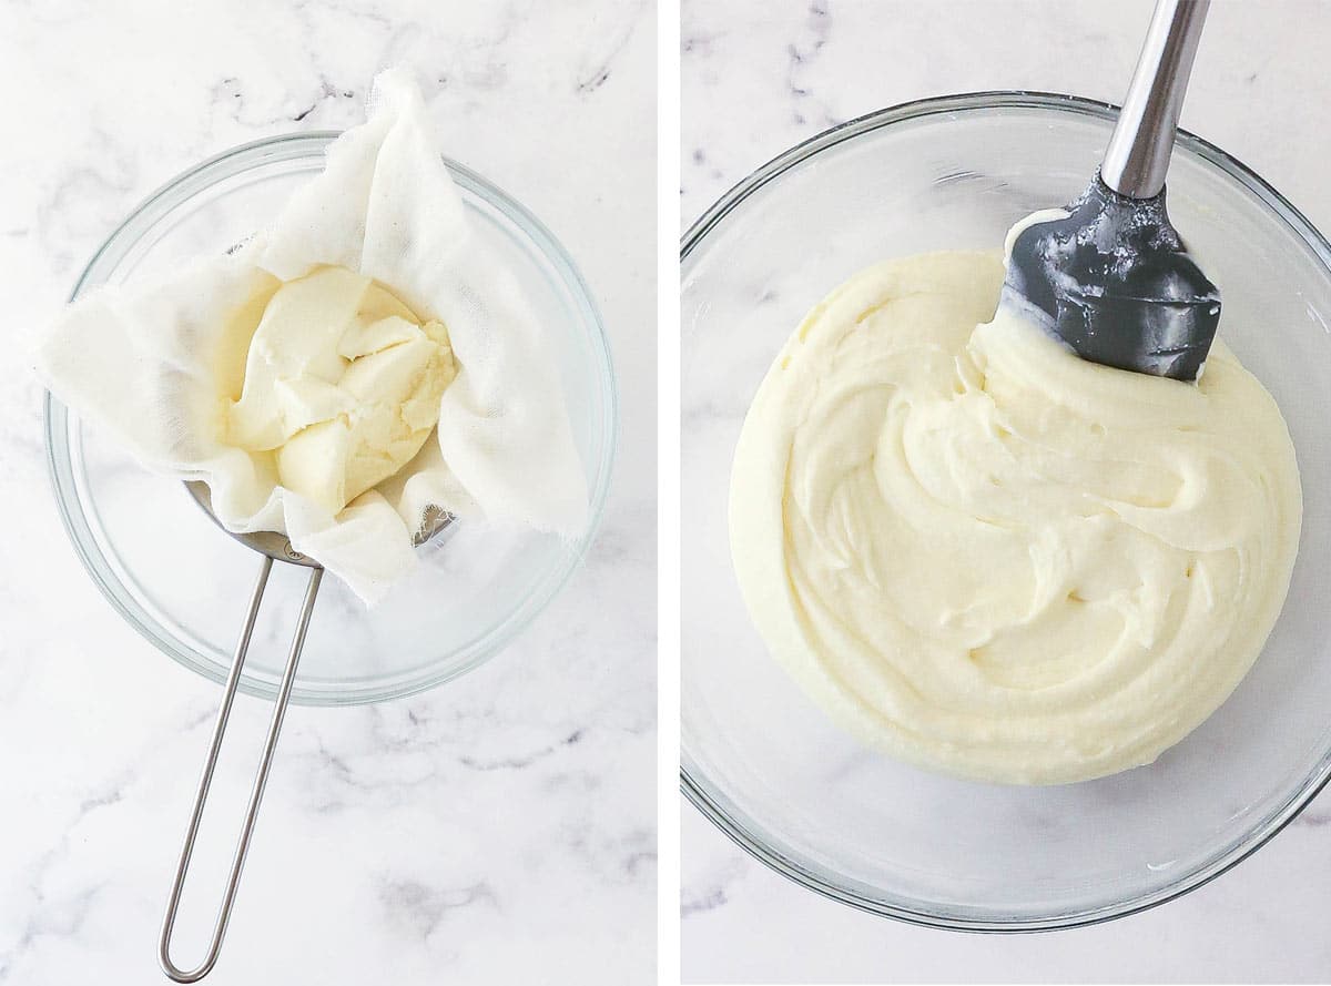
[(1059, 218), (1009, 236), (1002, 302), (1077, 355), (1195, 381), (1221, 293), (1165, 209), (1165, 173), (1210, 0), (1158, 0), (1123, 109), (1090, 188)]

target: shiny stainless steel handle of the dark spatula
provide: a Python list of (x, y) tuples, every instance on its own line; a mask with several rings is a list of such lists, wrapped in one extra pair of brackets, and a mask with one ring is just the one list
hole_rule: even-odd
[(1158, 0), (1133, 84), (1109, 138), (1101, 180), (1129, 198), (1165, 188), (1174, 132), (1211, 0)]

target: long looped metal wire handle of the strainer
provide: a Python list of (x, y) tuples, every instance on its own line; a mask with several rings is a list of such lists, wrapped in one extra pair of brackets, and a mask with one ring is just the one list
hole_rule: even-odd
[(258, 574), (258, 581), (254, 584), (249, 611), (245, 613), (245, 627), (241, 629), (241, 639), (236, 645), (232, 669), (226, 676), (226, 689), (222, 693), (222, 704), (217, 709), (217, 724), (213, 727), (213, 742), (208, 750), (208, 760), (204, 761), (204, 773), (198, 780), (198, 792), (194, 794), (194, 812), (189, 820), (189, 830), (185, 833), (185, 846), (181, 849), (180, 865), (176, 868), (176, 882), (172, 885), (170, 901), (166, 905), (166, 919), (162, 922), (162, 935), (157, 946), (157, 961), (161, 962), (162, 971), (176, 982), (198, 982), (202, 979), (212, 971), (217, 963), (217, 954), (222, 950), (222, 935), (226, 934), (226, 923), (232, 917), (236, 888), (241, 880), (241, 869), (245, 866), (245, 854), (249, 852), (250, 836), (254, 832), (254, 820), (258, 817), (260, 801), (264, 800), (268, 772), (273, 765), (273, 750), (277, 748), (277, 737), (282, 731), (282, 719), (286, 716), (286, 704), (290, 701), (291, 685), (295, 683), (295, 665), (301, 660), (301, 651), (305, 647), (305, 632), (310, 625), (310, 613), (314, 611), (319, 580), (323, 577), (322, 568), (310, 571), (310, 581), (305, 589), (305, 604), (301, 607), (301, 615), (295, 624), (295, 637), (291, 640), (291, 651), (286, 657), (286, 669), (282, 672), (282, 684), (277, 692), (277, 704), (273, 707), (273, 717), (268, 725), (268, 741), (264, 744), (258, 773), (254, 776), (254, 786), (250, 789), (249, 809), (245, 813), (245, 824), (241, 828), (240, 841), (236, 844), (236, 856), (232, 857), (232, 872), (226, 880), (226, 893), (222, 897), (222, 906), (218, 909), (217, 921), (213, 925), (213, 938), (208, 946), (208, 954), (204, 955), (204, 961), (194, 966), (194, 969), (184, 970), (170, 959), (170, 934), (176, 926), (180, 894), (185, 886), (185, 874), (189, 872), (190, 856), (194, 853), (194, 837), (198, 834), (198, 824), (204, 817), (204, 805), (208, 802), (208, 789), (213, 782), (217, 754), (222, 749), (226, 720), (232, 715), (232, 701), (236, 699), (236, 688), (241, 681), (241, 668), (245, 667), (245, 655), (249, 652), (250, 637), (254, 633), (254, 621), (258, 619), (260, 604), (264, 601), (264, 589), (268, 587), (268, 576), (272, 571), (273, 559), (265, 556), (264, 567)]

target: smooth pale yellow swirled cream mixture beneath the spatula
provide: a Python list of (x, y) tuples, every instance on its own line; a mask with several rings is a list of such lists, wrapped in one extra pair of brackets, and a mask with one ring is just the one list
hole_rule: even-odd
[(1234, 691), (1302, 498), (1222, 342), (1197, 385), (1087, 363), (994, 313), (1002, 277), (998, 253), (910, 257), (815, 307), (745, 419), (731, 546), (833, 719), (924, 768), (1058, 784), (1151, 762)]

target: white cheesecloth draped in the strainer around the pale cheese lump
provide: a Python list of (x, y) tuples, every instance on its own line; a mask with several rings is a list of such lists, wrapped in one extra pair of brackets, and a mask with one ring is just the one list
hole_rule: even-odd
[[(274, 277), (318, 265), (373, 277), (443, 321), (459, 365), (438, 440), (337, 516), (220, 438), (260, 314), (237, 310)], [(473, 233), (419, 92), (390, 71), (375, 80), (369, 120), (329, 146), (323, 172), (270, 229), (169, 278), (97, 289), (40, 335), (36, 359), (61, 402), (144, 466), (206, 482), (228, 530), (286, 534), (374, 604), (417, 564), (411, 536), (427, 506), (563, 536), (582, 530), (587, 482), (548, 346), (516, 277)]]

